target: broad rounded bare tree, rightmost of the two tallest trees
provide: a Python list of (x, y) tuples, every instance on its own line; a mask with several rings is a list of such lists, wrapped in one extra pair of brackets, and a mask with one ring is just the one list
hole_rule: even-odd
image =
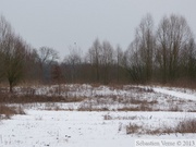
[(157, 30), (157, 61), (164, 83), (177, 77), (181, 56), (189, 39), (192, 33), (183, 16), (172, 14), (162, 19)]

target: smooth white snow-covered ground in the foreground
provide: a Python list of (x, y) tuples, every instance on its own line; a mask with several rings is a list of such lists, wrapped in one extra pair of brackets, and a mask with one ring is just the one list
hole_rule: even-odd
[[(110, 115), (110, 119), (105, 119)], [(28, 110), (0, 125), (1, 147), (130, 147), (136, 138), (195, 138), (196, 134), (127, 135), (128, 123), (151, 127), (175, 125), (181, 112), (77, 112)], [(193, 118), (192, 113), (186, 118)], [(175, 122), (175, 123), (174, 123)]]

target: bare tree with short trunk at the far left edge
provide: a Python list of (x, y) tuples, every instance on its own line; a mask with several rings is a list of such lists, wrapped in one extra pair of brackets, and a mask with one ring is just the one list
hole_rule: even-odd
[(1, 54), (1, 76), (8, 79), (10, 91), (23, 77), (25, 44), (23, 39), (14, 34), (11, 25), (4, 17), (0, 20), (0, 54)]

